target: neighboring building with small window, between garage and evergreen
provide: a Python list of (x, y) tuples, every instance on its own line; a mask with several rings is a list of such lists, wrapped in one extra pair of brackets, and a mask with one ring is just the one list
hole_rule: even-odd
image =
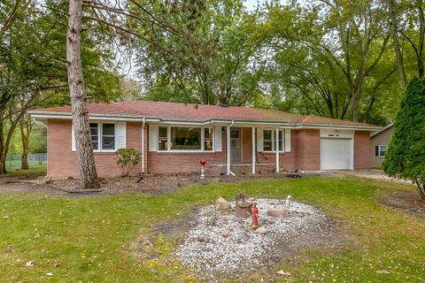
[(370, 135), (370, 167), (381, 168), (393, 131), (394, 126), (391, 123), (381, 131)]

